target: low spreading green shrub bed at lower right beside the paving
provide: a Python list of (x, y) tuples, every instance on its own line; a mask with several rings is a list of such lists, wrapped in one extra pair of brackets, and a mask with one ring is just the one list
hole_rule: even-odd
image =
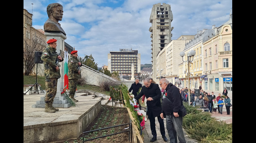
[(183, 117), (182, 127), (190, 138), (202, 143), (232, 142), (232, 124), (211, 117), (208, 112), (197, 110), (188, 103), (183, 103), (188, 114)]

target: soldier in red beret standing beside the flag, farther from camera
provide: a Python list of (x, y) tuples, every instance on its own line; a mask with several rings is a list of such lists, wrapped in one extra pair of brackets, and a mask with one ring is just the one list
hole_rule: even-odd
[(77, 51), (72, 51), (71, 56), (68, 59), (69, 98), (71, 98), (74, 102), (78, 102), (78, 100), (74, 98), (74, 95), (77, 89), (78, 79), (81, 78), (81, 71), (79, 70), (79, 67), (82, 66), (81, 62), (78, 61), (77, 56)]

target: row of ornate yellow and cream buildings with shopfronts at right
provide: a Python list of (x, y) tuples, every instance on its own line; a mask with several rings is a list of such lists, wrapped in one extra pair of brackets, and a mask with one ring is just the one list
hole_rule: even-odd
[(183, 87), (204, 90), (232, 91), (232, 14), (229, 21), (219, 27), (203, 29), (194, 39), (185, 44), (183, 60), (187, 53), (196, 51), (189, 63), (190, 85), (188, 85), (188, 62), (179, 64), (179, 82)]

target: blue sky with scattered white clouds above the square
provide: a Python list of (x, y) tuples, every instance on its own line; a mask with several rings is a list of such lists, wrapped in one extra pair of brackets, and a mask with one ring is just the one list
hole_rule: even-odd
[(171, 5), (172, 40), (195, 35), (197, 29), (219, 27), (233, 10), (232, 0), (24, 0), (23, 8), (33, 14), (34, 28), (44, 29), (50, 3), (63, 6), (59, 23), (67, 34), (65, 42), (81, 57), (92, 54), (98, 67), (107, 65), (109, 51), (130, 48), (141, 53), (141, 64), (151, 64), (149, 17), (154, 4)]

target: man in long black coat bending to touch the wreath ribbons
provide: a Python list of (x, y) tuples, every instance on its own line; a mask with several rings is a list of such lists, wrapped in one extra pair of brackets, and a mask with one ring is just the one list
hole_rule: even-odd
[(148, 78), (144, 80), (144, 85), (145, 86), (142, 86), (141, 88), (141, 92), (136, 97), (134, 97), (134, 99), (138, 100), (143, 95), (145, 95), (147, 98), (147, 115), (150, 121), (151, 133), (153, 135), (153, 138), (150, 140), (150, 142), (154, 142), (156, 140), (155, 117), (157, 117), (158, 119), (162, 138), (164, 139), (164, 141), (168, 141), (165, 137), (164, 119), (160, 117), (160, 114), (162, 112), (162, 105), (160, 100), (162, 97), (161, 90), (158, 84), (150, 83), (150, 80)]

